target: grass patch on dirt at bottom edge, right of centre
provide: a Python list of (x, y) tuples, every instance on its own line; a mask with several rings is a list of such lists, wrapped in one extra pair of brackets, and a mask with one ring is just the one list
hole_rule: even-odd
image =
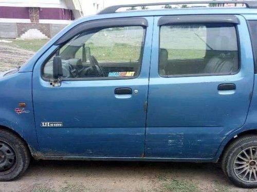
[(169, 180), (162, 184), (162, 187), (167, 191), (172, 192), (198, 192), (199, 187), (192, 182), (186, 180)]

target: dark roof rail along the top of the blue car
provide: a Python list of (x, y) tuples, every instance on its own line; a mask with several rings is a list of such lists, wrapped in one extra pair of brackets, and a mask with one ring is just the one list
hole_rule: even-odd
[(128, 4), (128, 5), (114, 5), (107, 7), (98, 14), (115, 13), (118, 9), (123, 7), (139, 7), (139, 6), (156, 6), (156, 5), (180, 5), (180, 4), (245, 4), (247, 8), (256, 9), (257, 1), (192, 1), (192, 2), (158, 2), (148, 4)]

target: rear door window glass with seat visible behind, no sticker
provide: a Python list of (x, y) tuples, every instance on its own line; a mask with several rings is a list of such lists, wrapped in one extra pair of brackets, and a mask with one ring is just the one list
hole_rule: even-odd
[(179, 24), (160, 27), (159, 75), (210, 76), (238, 72), (233, 24)]

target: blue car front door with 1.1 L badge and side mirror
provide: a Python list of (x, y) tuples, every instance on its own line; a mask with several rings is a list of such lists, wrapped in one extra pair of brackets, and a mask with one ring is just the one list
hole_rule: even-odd
[[(68, 42), (60, 39), (61, 45), (36, 62), (33, 103), (44, 156), (141, 156), (152, 24), (153, 17), (81, 24), (71, 29), (80, 33)], [(49, 81), (56, 55), (62, 59), (63, 76), (53, 87)]]

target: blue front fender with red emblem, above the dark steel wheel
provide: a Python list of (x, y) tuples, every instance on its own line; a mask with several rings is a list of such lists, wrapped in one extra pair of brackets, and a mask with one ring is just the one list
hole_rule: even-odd
[[(0, 125), (19, 134), (38, 149), (32, 104), (32, 73), (15, 73), (0, 78)], [(20, 107), (24, 102), (26, 106)]]

